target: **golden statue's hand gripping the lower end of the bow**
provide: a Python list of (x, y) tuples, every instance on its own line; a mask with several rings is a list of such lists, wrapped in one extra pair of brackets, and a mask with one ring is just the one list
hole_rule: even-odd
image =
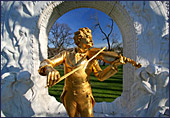
[(60, 73), (53, 67), (47, 67), (47, 86), (53, 86), (60, 78)]

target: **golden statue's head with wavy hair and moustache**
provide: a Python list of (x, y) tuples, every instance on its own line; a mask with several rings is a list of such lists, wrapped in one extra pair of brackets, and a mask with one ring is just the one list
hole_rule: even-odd
[(93, 46), (91, 30), (88, 27), (80, 28), (79, 31), (75, 32), (73, 39), (80, 48), (87, 49)]

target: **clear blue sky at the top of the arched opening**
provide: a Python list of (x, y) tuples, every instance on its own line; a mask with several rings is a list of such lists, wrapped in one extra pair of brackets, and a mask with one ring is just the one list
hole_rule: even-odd
[[(105, 13), (97, 9), (93, 9), (93, 8), (77, 8), (77, 9), (71, 10), (65, 13), (64, 15), (62, 15), (59, 19), (57, 19), (56, 22), (68, 24), (69, 27), (72, 29), (72, 32), (76, 32), (78, 31), (79, 28), (82, 28), (82, 27), (88, 27), (91, 29), (92, 26), (94, 25), (94, 20), (92, 20), (90, 17), (94, 16), (95, 14), (98, 15), (98, 19), (103, 30), (106, 33), (108, 33), (109, 30), (106, 28), (106, 25), (111, 24), (111, 20), (109, 20), (110, 17), (106, 15)], [(121, 33), (116, 23), (114, 23), (113, 30), (117, 32), (117, 34), (120, 37), (120, 40), (122, 40)], [(93, 36), (95, 47), (107, 46), (106, 40), (105, 41), (102, 40), (104, 35), (100, 32), (99, 29), (92, 31), (92, 36)]]

